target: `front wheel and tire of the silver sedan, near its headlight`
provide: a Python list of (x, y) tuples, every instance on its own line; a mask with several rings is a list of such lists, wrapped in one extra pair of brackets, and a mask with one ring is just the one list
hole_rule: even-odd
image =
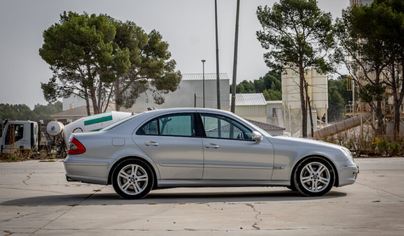
[(294, 185), (305, 196), (322, 196), (334, 186), (335, 173), (324, 158), (312, 157), (298, 164), (293, 174)]

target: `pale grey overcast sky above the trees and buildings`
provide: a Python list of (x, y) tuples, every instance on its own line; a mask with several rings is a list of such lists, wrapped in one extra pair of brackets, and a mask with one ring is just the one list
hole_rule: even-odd
[[(241, 0), (238, 36), (237, 83), (263, 76), (266, 67), (256, 31), (261, 28), (257, 6), (272, 6), (274, 0)], [(341, 16), (348, 0), (319, 0), (319, 7)], [(218, 0), (219, 65), (230, 81), (233, 71), (236, 0)], [(41, 82), (52, 76), (42, 60), (42, 33), (59, 20), (63, 11), (107, 14), (134, 21), (146, 32), (156, 29), (169, 42), (172, 58), (182, 73), (216, 72), (214, 0), (0, 0), (0, 103), (46, 104)]]

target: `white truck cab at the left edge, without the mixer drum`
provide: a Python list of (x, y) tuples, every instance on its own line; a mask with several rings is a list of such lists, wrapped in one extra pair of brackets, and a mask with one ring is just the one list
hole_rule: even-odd
[(38, 149), (38, 124), (32, 121), (5, 122), (0, 153)]

